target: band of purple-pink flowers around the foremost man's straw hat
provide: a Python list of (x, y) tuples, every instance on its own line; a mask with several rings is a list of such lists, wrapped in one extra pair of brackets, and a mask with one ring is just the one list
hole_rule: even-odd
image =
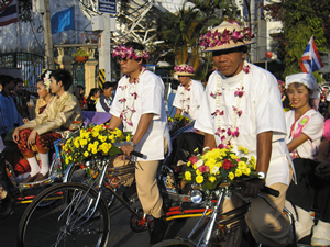
[[(233, 24), (238, 24), (237, 22), (231, 22)], [(241, 26), (240, 24), (238, 24)], [(234, 43), (251, 41), (255, 36), (255, 34), (251, 33), (250, 27), (241, 26), (242, 30), (233, 30), (232, 32), (228, 29), (224, 29), (223, 32), (218, 32), (216, 30), (213, 33), (209, 30), (205, 35), (200, 36), (199, 44), (205, 48), (212, 48), (218, 45), (230, 44), (230, 41)]]

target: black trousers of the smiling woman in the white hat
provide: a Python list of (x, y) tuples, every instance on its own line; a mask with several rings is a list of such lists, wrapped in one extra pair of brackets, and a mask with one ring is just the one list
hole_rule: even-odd
[(316, 206), (320, 220), (330, 223), (330, 180), (315, 175), (318, 164), (311, 159), (294, 159), (297, 184), (292, 182), (286, 199), (308, 212)]

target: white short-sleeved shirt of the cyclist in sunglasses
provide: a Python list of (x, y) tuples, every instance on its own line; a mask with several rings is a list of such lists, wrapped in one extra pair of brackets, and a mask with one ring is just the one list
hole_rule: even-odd
[[(124, 90), (123, 87), (128, 86)], [(123, 131), (132, 132), (134, 135), (139, 125), (141, 115), (153, 113), (150, 126), (135, 147), (136, 151), (144, 155), (144, 158), (138, 158), (139, 161), (162, 160), (164, 159), (164, 137), (167, 139), (170, 151), (170, 137), (167, 127), (167, 115), (164, 101), (165, 86), (163, 80), (155, 74), (145, 70), (138, 83), (136, 100), (134, 102), (135, 112), (133, 112), (131, 121), (132, 126), (123, 121)], [(123, 94), (125, 92), (125, 96)], [(120, 117), (123, 110), (123, 103), (120, 101), (125, 98), (125, 105), (131, 106), (134, 100), (132, 93), (135, 92), (135, 85), (129, 83), (128, 78), (122, 77), (118, 82), (118, 89), (113, 99), (110, 113)]]

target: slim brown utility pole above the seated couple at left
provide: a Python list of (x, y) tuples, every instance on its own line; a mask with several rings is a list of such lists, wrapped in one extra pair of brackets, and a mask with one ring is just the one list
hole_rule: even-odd
[(46, 69), (55, 69), (54, 53), (53, 53), (53, 37), (51, 25), (51, 7), (50, 0), (45, 1), (45, 13), (43, 14), (44, 40), (45, 40), (45, 67)]

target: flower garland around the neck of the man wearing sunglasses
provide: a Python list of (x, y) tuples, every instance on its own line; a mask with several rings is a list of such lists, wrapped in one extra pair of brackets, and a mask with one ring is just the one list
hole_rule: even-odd
[(138, 99), (138, 92), (136, 92), (138, 85), (139, 85), (139, 81), (141, 79), (142, 74), (145, 70), (146, 70), (146, 68), (144, 66), (141, 67), (139, 77), (134, 78), (134, 81), (133, 81), (134, 92), (131, 93), (131, 96), (133, 97), (133, 99), (131, 101), (131, 105), (127, 105), (128, 99), (125, 98), (127, 93), (130, 93), (130, 92), (127, 92), (127, 90), (129, 88), (131, 77), (129, 75), (125, 75), (125, 78), (127, 78), (125, 85), (124, 86), (119, 86), (119, 88), (121, 88), (123, 90), (123, 93), (122, 93), (123, 98), (119, 100), (119, 102), (122, 103), (122, 111), (120, 113), (120, 119), (125, 121), (130, 126), (133, 126), (133, 123), (132, 123), (131, 119), (132, 119), (133, 113), (136, 112), (134, 105), (135, 105), (135, 100)]

